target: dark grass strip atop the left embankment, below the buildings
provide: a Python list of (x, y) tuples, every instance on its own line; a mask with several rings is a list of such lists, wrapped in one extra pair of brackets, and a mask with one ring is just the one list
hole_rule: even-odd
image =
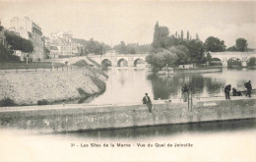
[[(54, 68), (65, 67), (65, 64), (54, 63)], [(51, 62), (32, 62), (28, 65), (26, 62), (19, 63), (0, 63), (0, 70), (12, 70), (12, 69), (51, 69)]]

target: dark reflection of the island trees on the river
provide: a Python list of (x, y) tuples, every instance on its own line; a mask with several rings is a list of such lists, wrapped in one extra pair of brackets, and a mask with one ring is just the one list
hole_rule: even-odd
[(192, 93), (198, 96), (220, 93), (221, 88), (224, 86), (224, 81), (204, 78), (200, 74), (149, 75), (147, 79), (152, 81), (155, 99), (179, 97), (181, 88), (185, 83), (191, 87)]

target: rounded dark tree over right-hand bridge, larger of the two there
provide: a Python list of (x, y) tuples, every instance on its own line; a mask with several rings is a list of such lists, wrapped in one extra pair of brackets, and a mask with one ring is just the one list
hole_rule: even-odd
[(220, 40), (218, 37), (209, 36), (205, 41), (206, 51), (222, 52), (225, 50), (224, 40)]

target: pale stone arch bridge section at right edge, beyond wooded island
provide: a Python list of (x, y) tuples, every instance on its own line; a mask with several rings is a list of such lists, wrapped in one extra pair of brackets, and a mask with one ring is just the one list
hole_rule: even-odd
[(256, 58), (256, 52), (210, 52), (212, 59), (220, 59), (223, 67), (227, 67), (228, 61), (239, 59), (242, 67), (247, 67), (247, 63), (253, 57)]

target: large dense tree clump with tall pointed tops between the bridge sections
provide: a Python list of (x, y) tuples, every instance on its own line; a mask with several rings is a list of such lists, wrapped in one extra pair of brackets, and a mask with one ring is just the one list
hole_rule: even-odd
[(160, 27), (157, 23), (152, 43), (152, 54), (146, 58), (146, 61), (153, 67), (159, 68), (162, 68), (163, 64), (175, 67), (180, 64), (205, 63), (207, 59), (204, 56), (204, 43), (199, 40), (198, 34), (196, 39), (191, 38), (189, 31), (187, 31), (186, 39), (183, 38), (183, 34), (183, 30), (181, 30), (181, 34), (175, 32), (175, 34), (169, 35), (168, 27)]

